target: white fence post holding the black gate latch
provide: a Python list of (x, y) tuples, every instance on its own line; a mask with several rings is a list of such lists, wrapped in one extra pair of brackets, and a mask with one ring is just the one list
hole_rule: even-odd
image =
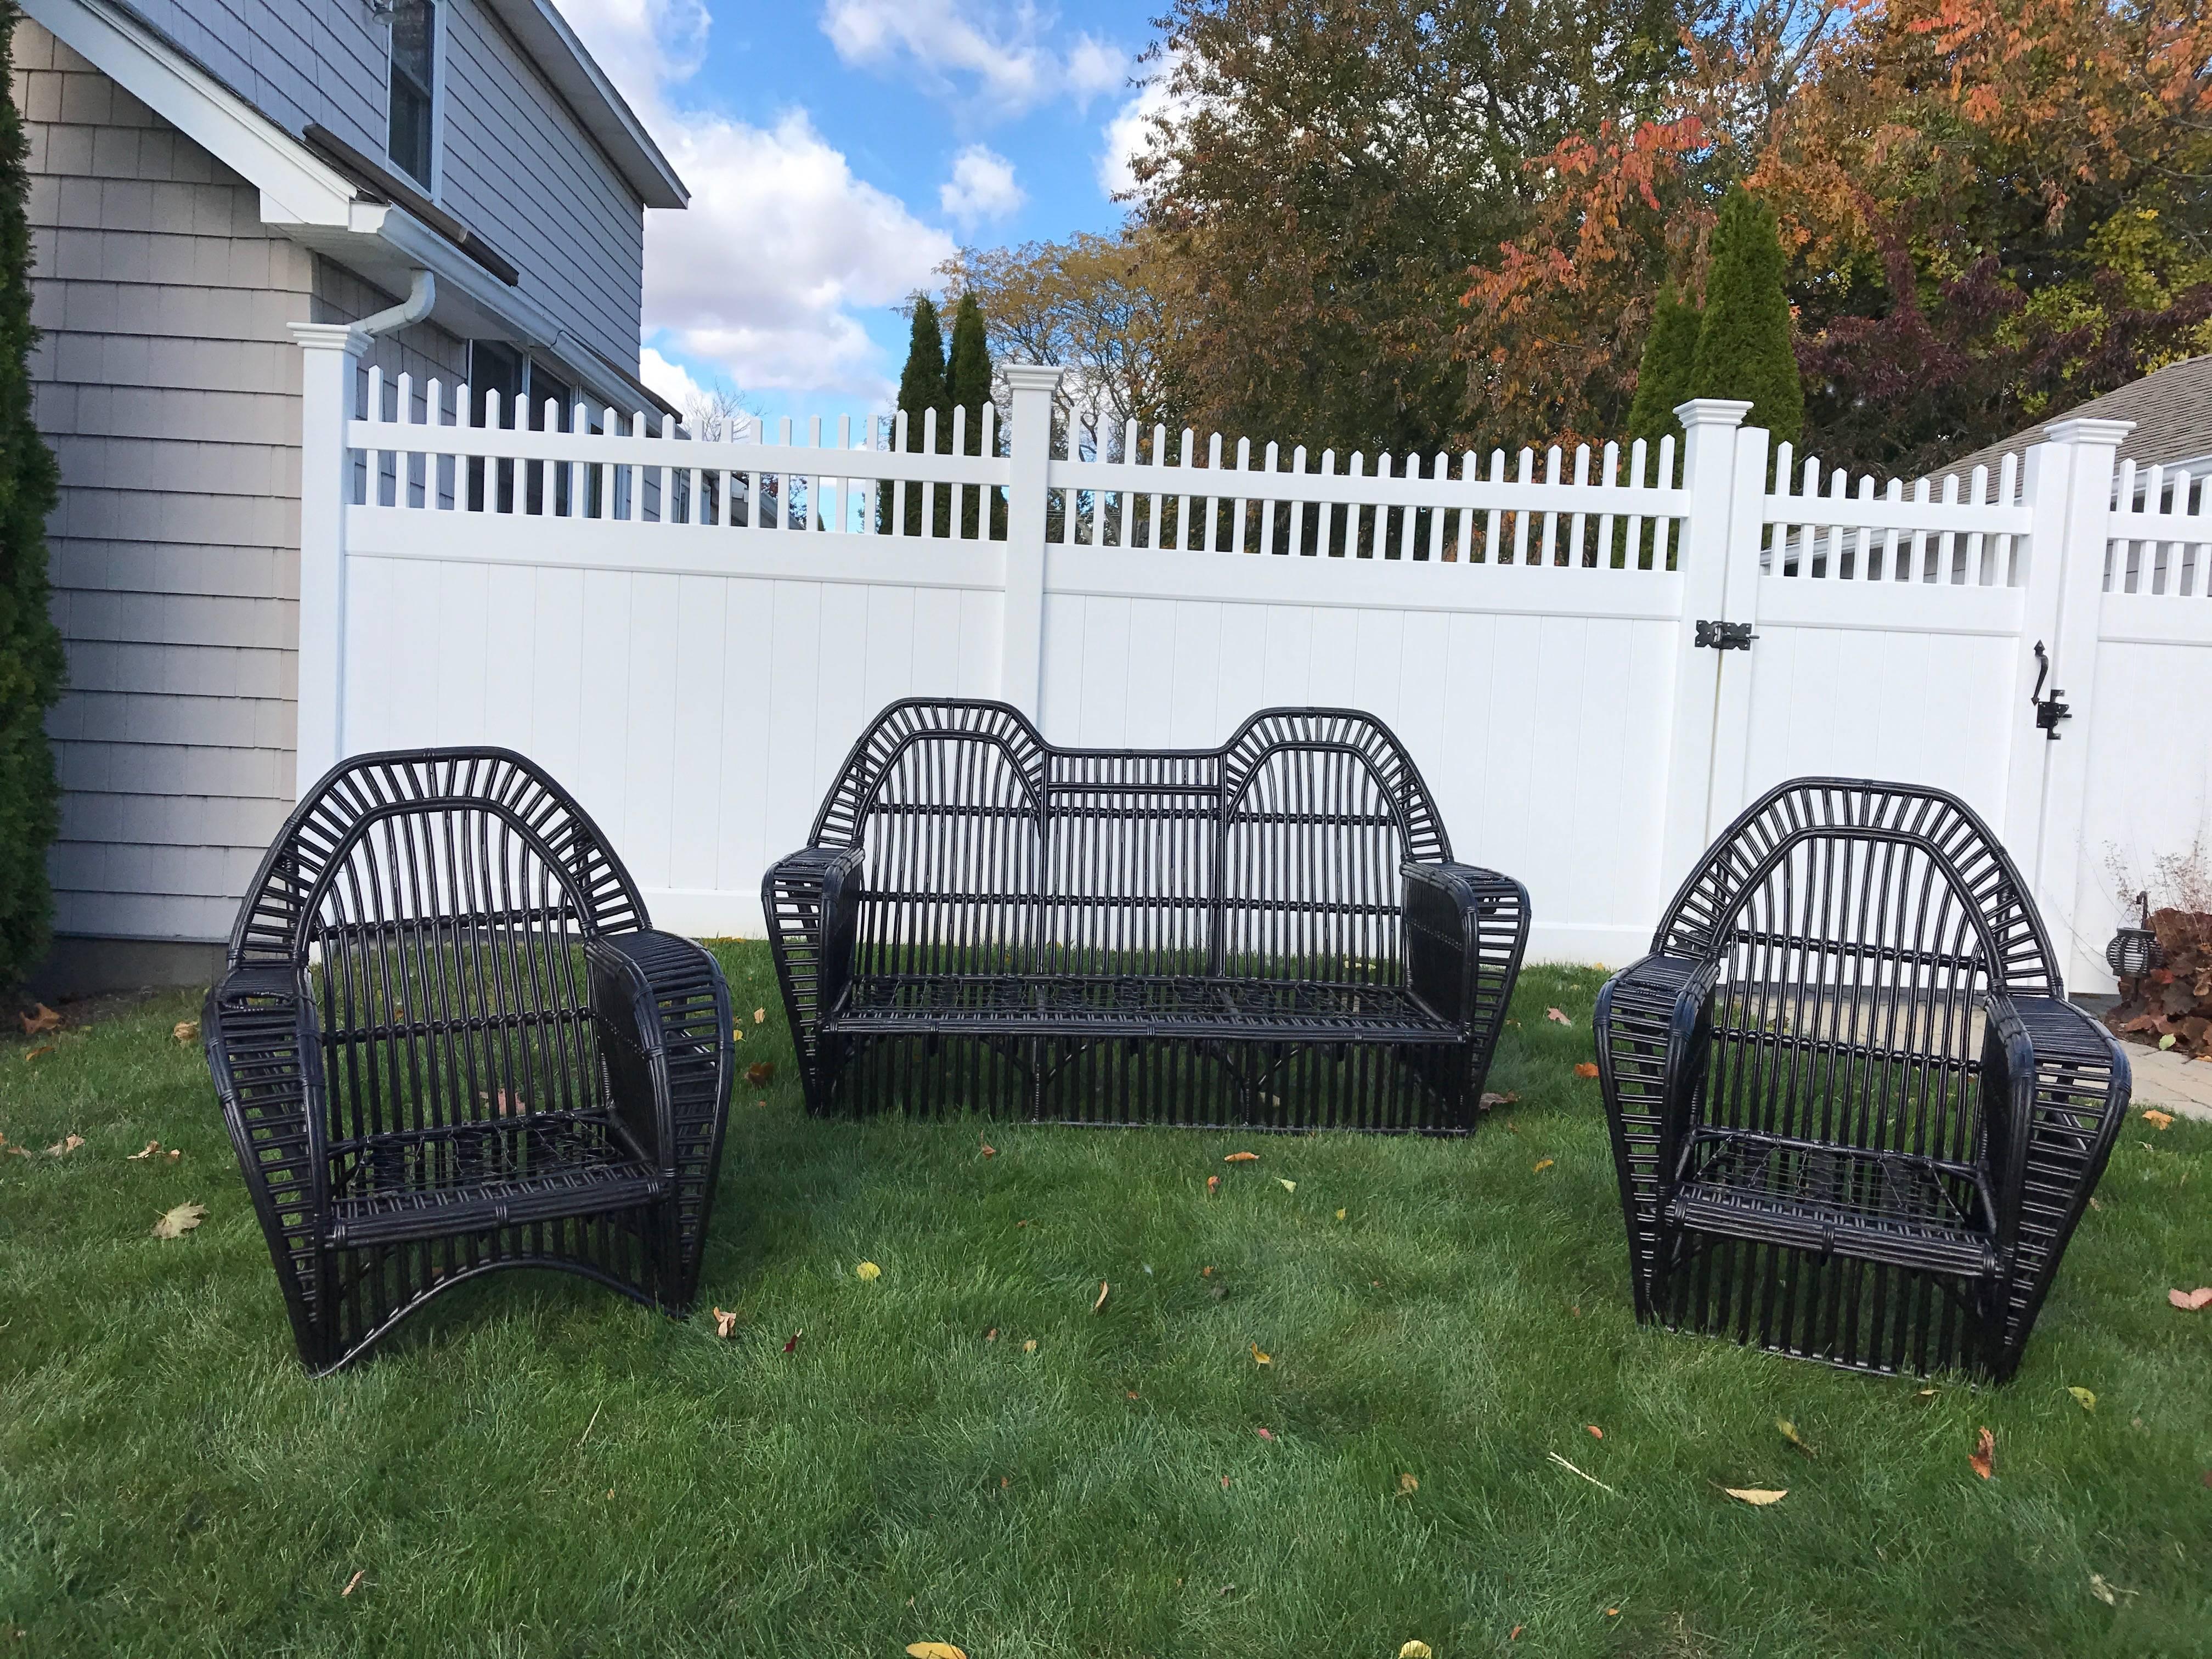
[[(2013, 666), (2013, 752), (2004, 790), (2004, 843), (2035, 896), (2059, 953), (2059, 973), (2104, 989), (2101, 940), (2079, 938), (2081, 845), (2088, 794), (2088, 708), (2097, 695), (2097, 635), (2104, 613), (2104, 560), (2110, 544), (2112, 471), (2132, 420), (2053, 420), (2028, 451), (2028, 577), (2022, 595), (2020, 657)], [(2031, 699), (2051, 661), (2044, 697), (2064, 688), (2075, 719), (2059, 741), (2035, 726)]]

